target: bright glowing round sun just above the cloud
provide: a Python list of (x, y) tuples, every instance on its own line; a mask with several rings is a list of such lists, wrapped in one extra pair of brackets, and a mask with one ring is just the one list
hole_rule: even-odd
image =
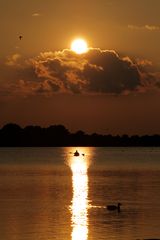
[(81, 38), (75, 39), (71, 43), (71, 50), (77, 54), (86, 53), (88, 51), (87, 42)]

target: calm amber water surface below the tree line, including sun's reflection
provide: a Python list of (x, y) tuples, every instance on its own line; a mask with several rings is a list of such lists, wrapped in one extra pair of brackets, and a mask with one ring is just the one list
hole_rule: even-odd
[(75, 150), (0, 148), (0, 239), (160, 239), (160, 148)]

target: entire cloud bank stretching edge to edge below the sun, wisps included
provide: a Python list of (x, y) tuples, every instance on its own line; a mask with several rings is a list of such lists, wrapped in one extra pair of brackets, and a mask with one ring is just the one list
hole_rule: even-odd
[[(120, 57), (113, 50), (91, 48), (78, 55), (69, 49), (32, 59), (19, 54), (1, 66), (1, 93), (22, 96), (57, 93), (129, 94), (159, 88), (159, 73), (148, 60)], [(6, 74), (7, 72), (7, 74)]]

